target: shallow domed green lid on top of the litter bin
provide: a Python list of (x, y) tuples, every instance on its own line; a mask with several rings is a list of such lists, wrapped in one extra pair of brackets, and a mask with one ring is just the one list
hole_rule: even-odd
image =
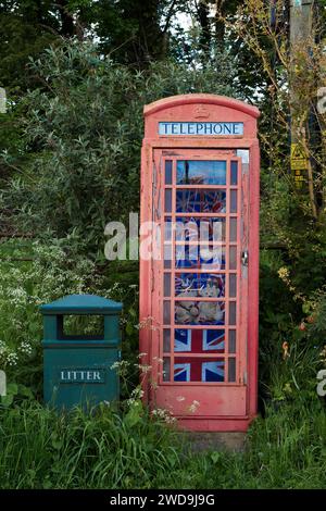
[(114, 314), (123, 304), (97, 295), (70, 295), (40, 307), (42, 314)]

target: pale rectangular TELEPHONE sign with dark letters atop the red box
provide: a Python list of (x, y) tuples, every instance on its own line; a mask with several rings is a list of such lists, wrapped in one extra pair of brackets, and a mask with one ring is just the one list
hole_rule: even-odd
[(243, 123), (159, 123), (159, 135), (242, 136)]

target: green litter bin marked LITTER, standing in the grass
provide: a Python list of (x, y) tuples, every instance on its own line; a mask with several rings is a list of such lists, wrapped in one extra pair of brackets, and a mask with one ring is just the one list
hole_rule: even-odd
[[(118, 374), (112, 365), (121, 359), (122, 303), (95, 295), (71, 295), (41, 306), (40, 311), (45, 325), (46, 403), (68, 410), (117, 400)], [(72, 320), (67, 316), (76, 315), (100, 316), (101, 332), (91, 335), (66, 332), (66, 322)]]

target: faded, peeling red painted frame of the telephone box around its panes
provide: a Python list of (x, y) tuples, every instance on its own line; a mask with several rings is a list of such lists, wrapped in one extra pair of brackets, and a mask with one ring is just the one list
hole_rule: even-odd
[[(155, 221), (161, 223), (164, 216), (162, 204), (164, 185), (163, 170), (165, 161), (172, 162), (173, 173), (176, 172), (178, 160), (187, 161), (225, 161), (227, 175), (230, 173), (231, 162), (239, 169), (239, 180), (234, 187), (238, 197), (236, 214), (221, 214), (225, 217), (226, 253), (229, 253), (229, 222), (237, 219), (237, 275), (236, 299), (228, 296), (226, 284), (225, 311), (230, 311), (230, 301), (236, 302), (236, 354), (230, 356), (228, 313), (225, 319), (225, 358), (224, 367), (228, 367), (229, 358), (236, 358), (236, 378), (234, 382), (176, 382), (174, 376), (170, 381), (162, 375), (162, 359), (166, 357), (168, 366), (174, 367), (174, 359), (180, 354), (173, 350), (163, 352), (163, 275), (166, 273), (163, 260), (140, 260), (140, 352), (141, 363), (150, 366), (141, 375), (145, 401), (153, 408), (167, 409), (177, 417), (180, 427), (189, 431), (247, 431), (248, 425), (256, 414), (258, 399), (258, 319), (259, 319), (259, 173), (260, 153), (256, 138), (256, 120), (260, 113), (254, 107), (226, 97), (213, 95), (186, 95), (166, 98), (145, 107), (145, 138), (141, 153), (141, 213), (140, 222)], [(162, 124), (168, 123), (168, 129)], [(180, 126), (201, 123), (199, 135), (183, 135)], [(204, 124), (225, 123), (242, 125), (236, 129), (237, 135), (229, 134), (224, 128), (222, 135), (203, 136)], [(229, 123), (229, 124), (227, 124)], [(175, 124), (175, 127), (171, 127)], [(165, 134), (166, 132), (166, 134)], [(174, 132), (176, 135), (174, 135)], [(189, 129), (187, 128), (187, 133)], [(175, 201), (177, 188), (174, 179), (171, 195)], [(185, 186), (184, 186), (185, 188)], [(213, 190), (220, 186), (205, 186)], [(229, 194), (229, 177), (225, 186)], [(209, 191), (210, 191), (209, 190)], [(227, 195), (229, 197), (229, 195)], [(227, 210), (227, 212), (229, 212)], [(176, 217), (176, 211), (170, 213)], [(179, 214), (179, 213), (178, 213)], [(203, 213), (202, 213), (203, 215)], [(205, 216), (205, 215), (203, 215)], [(143, 237), (141, 237), (142, 240)], [(174, 241), (175, 242), (175, 241)], [(247, 257), (244, 260), (243, 256)], [(226, 256), (226, 267), (218, 271), (229, 282), (229, 263)], [(163, 259), (163, 257), (162, 257)], [(168, 271), (167, 271), (168, 272)], [(172, 265), (171, 282), (175, 282), (174, 263)], [(172, 285), (173, 289), (173, 285)], [(189, 298), (183, 298), (183, 300)], [(166, 300), (166, 298), (165, 298)], [(191, 298), (191, 300), (193, 300)], [(209, 299), (210, 300), (210, 299)], [(211, 298), (212, 300), (212, 298)], [(173, 291), (171, 301), (171, 320), (168, 328), (174, 332), (176, 327), (174, 314)], [(230, 314), (230, 312), (229, 312)], [(165, 325), (166, 327), (166, 325)], [(178, 328), (180, 326), (178, 325)], [(187, 325), (185, 328), (191, 328)], [(208, 328), (205, 325), (196, 325), (196, 329)], [(217, 327), (218, 328), (218, 327)], [(192, 334), (191, 334), (192, 335)], [(196, 357), (196, 356), (193, 356)], [(212, 356), (211, 356), (212, 357)], [(215, 356), (216, 357), (216, 356)], [(211, 359), (213, 360), (213, 359)], [(171, 369), (173, 372), (174, 370)], [(224, 379), (228, 371), (225, 370)]]

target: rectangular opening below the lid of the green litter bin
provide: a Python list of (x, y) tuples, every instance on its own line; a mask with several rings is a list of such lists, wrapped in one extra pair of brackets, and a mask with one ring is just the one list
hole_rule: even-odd
[(100, 340), (104, 338), (104, 316), (96, 314), (58, 315), (58, 339)]

